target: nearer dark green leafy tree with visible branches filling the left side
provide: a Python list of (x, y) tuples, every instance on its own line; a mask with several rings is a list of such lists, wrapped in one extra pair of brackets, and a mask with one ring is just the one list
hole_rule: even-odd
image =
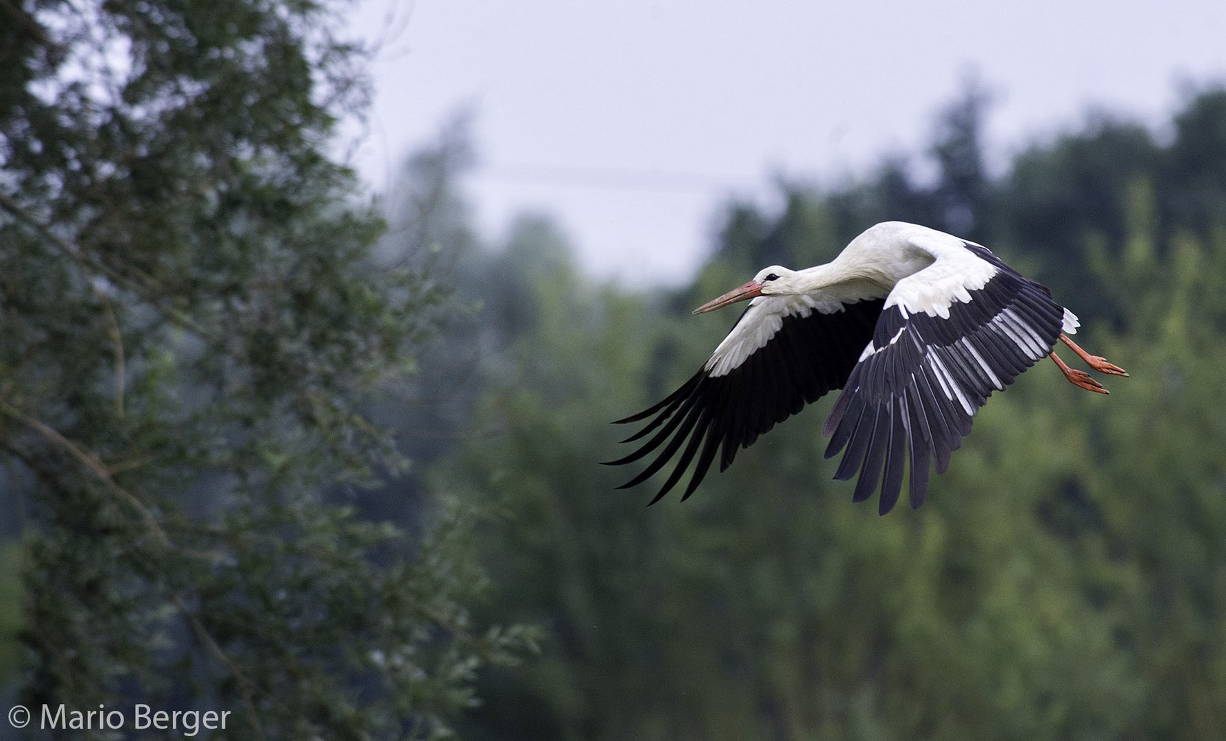
[(0, 5), (0, 458), (29, 704), (438, 737), (520, 644), (470, 618), (484, 579), (454, 498), (406, 502), (412, 534), (353, 514), (405, 466), (354, 410), (409, 369), (440, 291), (421, 255), (375, 251), (383, 222), (327, 153), (367, 96), (338, 10)]

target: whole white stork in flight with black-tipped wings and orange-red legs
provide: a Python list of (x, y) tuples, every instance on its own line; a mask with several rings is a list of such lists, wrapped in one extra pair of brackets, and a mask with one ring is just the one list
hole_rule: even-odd
[[(660, 450), (620, 488), (642, 483), (680, 450), (660, 501), (698, 455), (684, 501), (720, 455), (738, 448), (834, 389), (826, 458), (846, 448), (835, 478), (859, 474), (853, 501), (881, 482), (879, 512), (894, 508), (910, 455), (911, 507), (923, 504), (929, 461), (937, 472), (971, 431), (994, 390), (1049, 356), (1073, 384), (1107, 394), (1053, 352), (1057, 340), (1100, 373), (1128, 375), (1078, 347), (1078, 318), (1040, 283), (987, 248), (937, 229), (890, 221), (870, 227), (825, 265), (764, 269), (739, 288), (694, 309), (749, 307), (684, 385), (617, 423), (651, 421), (623, 442), (652, 434), (622, 465)], [(684, 450), (682, 445), (684, 444)], [(884, 472), (884, 478), (883, 478)]]

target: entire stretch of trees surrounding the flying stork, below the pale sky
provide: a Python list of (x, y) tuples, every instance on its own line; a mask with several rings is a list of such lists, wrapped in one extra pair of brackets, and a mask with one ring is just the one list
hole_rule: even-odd
[[(732, 201), (690, 285), (644, 292), (548, 216), (483, 240), (462, 121), (371, 206), (331, 146), (368, 96), (340, 10), (0, 0), (5, 709), (229, 709), (218, 739), (1226, 734), (1226, 90), (991, 174), (969, 85), (926, 151)], [(989, 245), (1132, 378), (1026, 373), (918, 512), (831, 481), (829, 400), (685, 504), (613, 491), (608, 421), (736, 317), (689, 309), (881, 220)]]

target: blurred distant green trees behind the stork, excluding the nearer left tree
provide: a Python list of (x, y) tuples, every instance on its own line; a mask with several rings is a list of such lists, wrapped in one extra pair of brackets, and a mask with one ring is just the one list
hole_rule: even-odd
[[(694, 285), (655, 299), (528, 249), (557, 243), (541, 223), (485, 253), (503, 350), (444, 471), (503, 513), (482, 537), (501, 585), (489, 610), (548, 639), (539, 660), (482, 681), (470, 735), (1216, 737), (1226, 223), (1205, 173), (1226, 159), (1183, 152), (1190, 121), (1216, 141), (1221, 96), (1190, 99), (1170, 145), (1098, 118), (993, 179), (972, 87), (935, 129), (937, 182), (893, 158), (834, 190), (783, 183), (777, 211), (732, 204)], [(1199, 201), (1166, 193), (1193, 183)], [(760, 265), (828, 260), (878, 218), (955, 228), (962, 206), (978, 238), (1081, 314), (1085, 346), (1133, 373), (1112, 396), (1036, 367), (983, 410), (915, 513), (878, 518), (830, 481), (829, 400), (684, 504), (611, 491), (623, 472), (592, 464), (615, 456), (606, 422), (674, 388), (731, 321), (688, 308)], [(503, 323), (510, 307), (531, 320)]]

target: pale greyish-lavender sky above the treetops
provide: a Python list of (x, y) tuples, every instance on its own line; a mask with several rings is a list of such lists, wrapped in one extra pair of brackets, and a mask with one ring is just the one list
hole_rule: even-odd
[(729, 193), (915, 152), (973, 70), (1005, 156), (1091, 107), (1159, 123), (1226, 79), (1222, 0), (363, 0), (376, 189), (460, 108), (483, 231), (557, 217), (595, 275), (677, 283)]

